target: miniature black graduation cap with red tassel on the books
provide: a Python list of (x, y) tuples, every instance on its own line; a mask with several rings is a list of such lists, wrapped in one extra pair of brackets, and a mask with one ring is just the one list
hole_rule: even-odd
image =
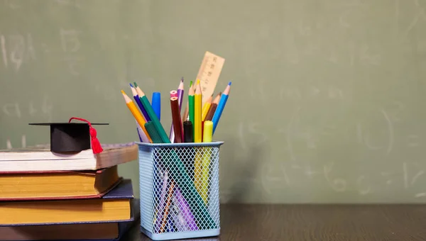
[[(71, 120), (82, 120), (85, 123), (72, 123)], [(92, 148), (93, 153), (103, 151), (92, 125), (109, 125), (108, 123), (90, 123), (82, 118), (72, 117), (67, 123), (29, 123), (29, 125), (50, 126), (51, 152), (81, 152)]]

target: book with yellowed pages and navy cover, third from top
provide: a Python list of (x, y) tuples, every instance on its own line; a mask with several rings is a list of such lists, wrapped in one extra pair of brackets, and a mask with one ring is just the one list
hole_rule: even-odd
[(131, 199), (131, 180), (123, 180), (102, 198), (0, 202), (0, 225), (129, 220)]

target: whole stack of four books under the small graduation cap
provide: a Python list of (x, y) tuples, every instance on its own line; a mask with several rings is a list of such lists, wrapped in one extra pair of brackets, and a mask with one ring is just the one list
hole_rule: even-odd
[(119, 240), (139, 209), (117, 165), (138, 159), (138, 147), (102, 147), (0, 151), (0, 240)]

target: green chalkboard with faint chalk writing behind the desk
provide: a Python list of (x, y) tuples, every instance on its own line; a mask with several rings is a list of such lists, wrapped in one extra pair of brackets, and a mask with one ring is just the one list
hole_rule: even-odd
[[(0, 1), (0, 147), (48, 142), (71, 116), (138, 140), (120, 90), (232, 81), (216, 140), (222, 202), (426, 201), (422, 1)], [(187, 92), (186, 92), (187, 93)], [(186, 101), (186, 99), (185, 99)], [(10, 146), (9, 145), (9, 146)], [(138, 189), (138, 163), (120, 173)], [(138, 195), (136, 195), (138, 196)]]

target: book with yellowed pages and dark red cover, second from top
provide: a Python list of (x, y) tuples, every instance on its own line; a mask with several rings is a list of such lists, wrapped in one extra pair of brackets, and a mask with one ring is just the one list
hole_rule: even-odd
[(119, 181), (117, 166), (82, 172), (0, 172), (0, 201), (100, 198)]

